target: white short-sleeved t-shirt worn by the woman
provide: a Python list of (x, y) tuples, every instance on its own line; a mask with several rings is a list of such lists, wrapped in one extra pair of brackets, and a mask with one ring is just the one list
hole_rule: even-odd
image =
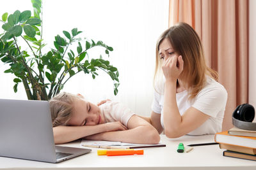
[[(204, 124), (200, 125), (197, 129), (189, 132), (190, 135), (202, 135), (202, 134), (215, 134), (221, 132), (225, 107), (227, 104), (227, 91), (217, 81), (207, 76), (205, 87), (197, 94), (192, 101), (188, 100), (188, 91), (176, 94), (177, 106), (179, 108), (180, 115), (183, 115), (191, 106), (199, 111), (202, 111), (206, 115), (209, 115)], [(152, 103), (152, 110), (155, 113), (161, 114), (161, 125), (163, 124), (163, 104), (164, 95), (154, 92), (154, 101)]]

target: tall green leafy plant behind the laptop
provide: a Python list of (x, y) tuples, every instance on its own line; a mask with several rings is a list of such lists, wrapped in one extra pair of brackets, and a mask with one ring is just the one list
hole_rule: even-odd
[[(34, 16), (31, 11), (15, 11), (8, 15), (4, 13), (0, 22), (3, 23), (3, 33), (0, 34), (0, 59), (10, 68), (4, 73), (13, 73), (14, 92), (17, 85), (23, 83), (28, 99), (49, 100), (63, 89), (65, 83), (77, 73), (92, 74), (92, 78), (98, 75), (102, 69), (114, 82), (114, 94), (118, 93), (118, 70), (111, 66), (102, 55), (97, 59), (90, 59), (88, 52), (95, 46), (105, 49), (105, 55), (113, 51), (111, 46), (102, 41), (93, 39), (81, 39), (78, 35), (82, 31), (77, 28), (71, 32), (63, 31), (63, 36), (55, 36), (54, 48), (43, 53), (45, 46), (42, 37), (42, 1), (31, 0)], [(19, 41), (18, 41), (19, 39)], [(29, 50), (24, 50), (19, 42), (24, 41)], [(76, 50), (70, 46), (76, 45)]]

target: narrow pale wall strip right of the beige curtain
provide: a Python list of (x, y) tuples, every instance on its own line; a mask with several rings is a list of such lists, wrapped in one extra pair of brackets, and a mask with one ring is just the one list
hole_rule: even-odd
[(256, 107), (256, 1), (249, 4), (249, 103)]

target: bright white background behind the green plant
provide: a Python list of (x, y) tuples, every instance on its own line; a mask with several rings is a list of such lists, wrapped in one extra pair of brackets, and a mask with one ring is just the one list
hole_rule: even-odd
[[(43, 34), (47, 48), (54, 47), (54, 36), (77, 27), (83, 31), (81, 37), (101, 40), (114, 48), (109, 60), (120, 72), (117, 96), (113, 95), (113, 82), (105, 73), (100, 73), (95, 80), (88, 74), (76, 75), (63, 90), (83, 94), (93, 103), (106, 98), (120, 101), (140, 115), (150, 115), (155, 44), (161, 32), (168, 28), (168, 0), (55, 0), (43, 3)], [(15, 10), (32, 10), (30, 0), (4, 1), (0, 15)], [(95, 55), (99, 56), (97, 52)], [(16, 94), (13, 92), (14, 76), (3, 73), (7, 68), (0, 62), (0, 98), (26, 99), (22, 84)]]

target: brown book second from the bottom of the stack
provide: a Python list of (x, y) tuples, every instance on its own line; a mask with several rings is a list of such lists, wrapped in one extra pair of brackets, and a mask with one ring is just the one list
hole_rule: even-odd
[(220, 148), (225, 150), (231, 150), (235, 152), (247, 153), (251, 155), (256, 155), (256, 148), (248, 148), (243, 146), (236, 146), (236, 145), (228, 145), (225, 143), (220, 143)]

